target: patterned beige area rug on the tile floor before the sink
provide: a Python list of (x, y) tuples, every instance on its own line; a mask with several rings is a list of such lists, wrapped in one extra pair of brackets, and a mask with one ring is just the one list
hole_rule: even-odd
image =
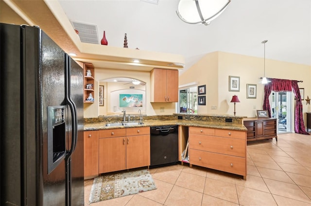
[(146, 169), (107, 174), (94, 178), (89, 203), (155, 189), (155, 182)]

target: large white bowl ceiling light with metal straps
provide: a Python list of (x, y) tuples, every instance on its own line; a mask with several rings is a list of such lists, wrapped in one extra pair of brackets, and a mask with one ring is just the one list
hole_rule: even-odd
[(217, 18), (231, 0), (180, 0), (177, 16), (188, 24), (208, 25)]

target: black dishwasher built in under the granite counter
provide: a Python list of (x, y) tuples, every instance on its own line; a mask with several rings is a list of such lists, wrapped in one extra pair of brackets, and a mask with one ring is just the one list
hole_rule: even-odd
[(178, 162), (178, 126), (150, 127), (150, 167)]

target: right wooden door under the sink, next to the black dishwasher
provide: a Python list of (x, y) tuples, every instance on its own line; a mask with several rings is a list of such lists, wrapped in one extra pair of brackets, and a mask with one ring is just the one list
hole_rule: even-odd
[(150, 165), (150, 135), (126, 137), (126, 169)]

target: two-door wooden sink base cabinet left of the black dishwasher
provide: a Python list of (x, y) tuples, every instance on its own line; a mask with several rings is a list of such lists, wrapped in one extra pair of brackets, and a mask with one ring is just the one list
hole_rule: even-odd
[(100, 174), (149, 165), (150, 127), (100, 130)]

